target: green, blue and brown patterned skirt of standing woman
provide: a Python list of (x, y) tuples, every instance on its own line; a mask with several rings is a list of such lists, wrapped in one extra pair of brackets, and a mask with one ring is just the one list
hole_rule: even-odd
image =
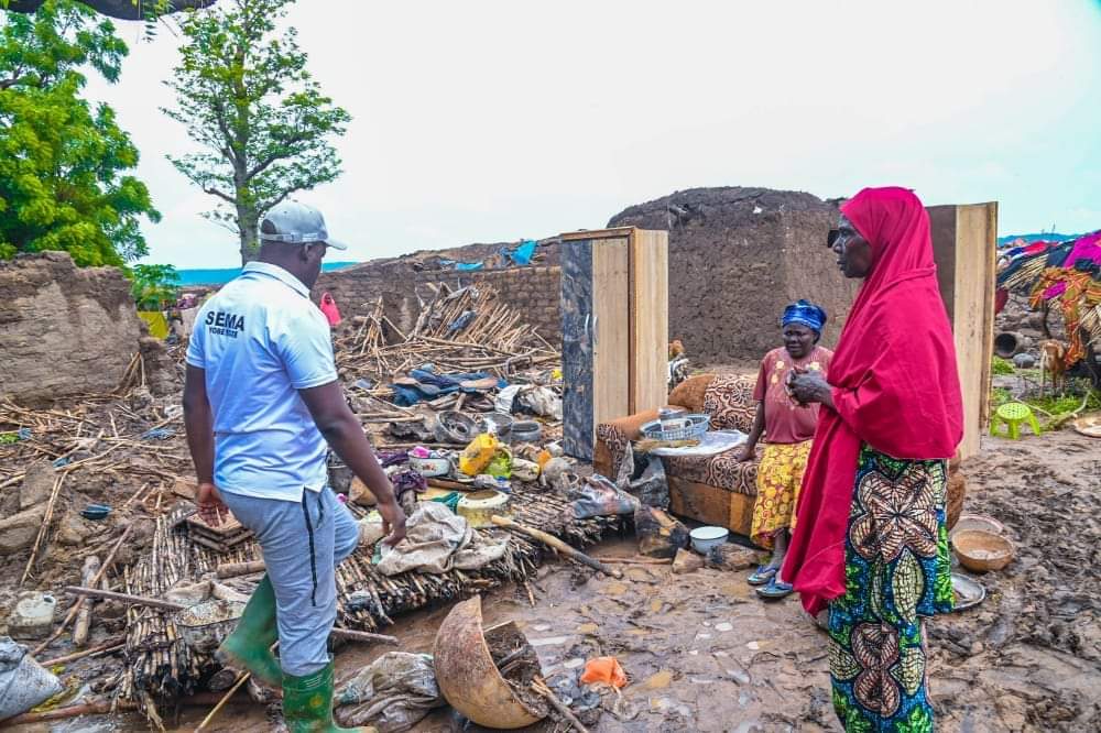
[(829, 604), (833, 707), (847, 731), (933, 731), (922, 616), (953, 608), (944, 460), (864, 446)]

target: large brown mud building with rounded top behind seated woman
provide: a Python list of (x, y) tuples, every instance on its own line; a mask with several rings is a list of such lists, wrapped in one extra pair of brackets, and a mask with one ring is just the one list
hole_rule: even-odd
[(780, 316), (798, 298), (829, 314), (832, 346), (855, 295), (826, 247), (837, 209), (767, 188), (694, 188), (612, 217), (609, 227), (669, 232), (669, 338), (698, 364), (752, 363), (780, 346)]

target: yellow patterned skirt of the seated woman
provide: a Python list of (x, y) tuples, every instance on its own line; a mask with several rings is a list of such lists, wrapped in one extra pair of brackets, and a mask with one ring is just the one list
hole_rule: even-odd
[(772, 536), (777, 529), (795, 527), (795, 506), (810, 456), (810, 442), (765, 444), (757, 467), (757, 496), (750, 529), (750, 539), (755, 545), (772, 549)]

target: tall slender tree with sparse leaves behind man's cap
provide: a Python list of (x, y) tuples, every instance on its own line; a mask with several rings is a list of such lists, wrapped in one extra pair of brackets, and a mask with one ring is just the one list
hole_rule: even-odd
[(263, 215), (297, 190), (340, 175), (329, 142), (351, 117), (306, 69), (293, 28), (279, 28), (293, 0), (221, 0), (182, 23), (186, 43), (173, 79), (181, 122), (203, 152), (170, 156), (219, 200), (207, 216), (235, 231), (241, 261), (259, 251)]

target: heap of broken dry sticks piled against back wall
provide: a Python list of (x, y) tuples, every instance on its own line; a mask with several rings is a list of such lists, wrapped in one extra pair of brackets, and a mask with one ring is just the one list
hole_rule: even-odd
[(381, 382), (425, 363), (440, 371), (506, 376), (556, 366), (562, 360), (558, 349), (525, 324), (523, 314), (500, 303), (492, 288), (428, 287), (432, 297), (408, 333), (385, 316), (382, 298), (371, 315), (352, 319), (358, 328), (335, 342), (337, 365), (346, 379), (373, 376)]

